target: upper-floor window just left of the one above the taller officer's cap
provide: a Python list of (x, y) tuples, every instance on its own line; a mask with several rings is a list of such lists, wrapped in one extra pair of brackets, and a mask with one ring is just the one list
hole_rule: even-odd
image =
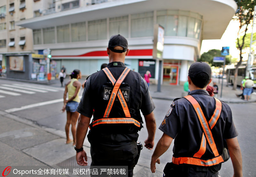
[(88, 40), (107, 39), (107, 19), (88, 21)]

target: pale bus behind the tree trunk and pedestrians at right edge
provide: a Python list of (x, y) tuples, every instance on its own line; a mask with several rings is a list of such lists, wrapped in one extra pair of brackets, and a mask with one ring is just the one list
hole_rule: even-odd
[[(234, 84), (235, 81), (235, 70), (236, 68), (229, 68), (226, 71), (226, 74), (228, 76), (227, 81), (231, 83), (232, 85)], [(240, 66), (238, 68), (238, 73), (237, 73), (237, 85), (241, 85), (242, 80), (245, 77), (245, 72), (246, 72), (246, 67), (245, 66)], [(250, 77), (252, 77), (252, 80), (254, 81), (254, 88), (256, 88), (256, 66), (252, 66), (252, 70), (249, 72)]]

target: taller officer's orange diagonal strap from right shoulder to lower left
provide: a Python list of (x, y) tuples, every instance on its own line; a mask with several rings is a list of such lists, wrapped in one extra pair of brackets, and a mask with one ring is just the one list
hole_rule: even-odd
[[(119, 90), (119, 87), (121, 85), (121, 83), (124, 81), (125, 77), (127, 76), (127, 74), (131, 71), (131, 69), (129, 68), (125, 68), (123, 73), (120, 75), (120, 77), (116, 80), (115, 84), (114, 84), (114, 88), (112, 90), (112, 93), (111, 93), (111, 96), (109, 98), (109, 101), (108, 101), (108, 106), (106, 108), (106, 111), (104, 113), (104, 117), (108, 117), (109, 116), (109, 113), (112, 109), (112, 106), (113, 106), (113, 103), (116, 99), (116, 95), (117, 95), (117, 92)], [(111, 74), (112, 75), (112, 74)]]

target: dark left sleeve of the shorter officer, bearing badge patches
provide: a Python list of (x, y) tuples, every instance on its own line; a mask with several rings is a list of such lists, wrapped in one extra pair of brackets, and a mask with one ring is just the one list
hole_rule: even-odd
[(180, 121), (178, 119), (179, 114), (176, 108), (177, 106), (175, 105), (175, 102), (172, 102), (169, 110), (164, 117), (164, 120), (159, 127), (162, 132), (170, 136), (172, 139), (177, 136), (178, 129), (180, 127)]

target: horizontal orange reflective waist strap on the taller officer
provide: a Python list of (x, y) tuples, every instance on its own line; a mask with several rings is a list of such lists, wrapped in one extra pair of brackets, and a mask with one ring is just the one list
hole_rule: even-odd
[(140, 127), (140, 122), (133, 118), (103, 118), (91, 123), (92, 127), (99, 124), (134, 124), (135, 126)]

